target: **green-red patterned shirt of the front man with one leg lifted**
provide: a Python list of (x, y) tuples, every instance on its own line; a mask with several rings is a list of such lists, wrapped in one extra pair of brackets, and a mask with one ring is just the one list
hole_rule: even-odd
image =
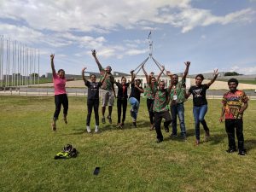
[(164, 90), (156, 90), (155, 97), (154, 97), (154, 112), (163, 112), (169, 110), (168, 105), (168, 96), (170, 92), (167, 89)]

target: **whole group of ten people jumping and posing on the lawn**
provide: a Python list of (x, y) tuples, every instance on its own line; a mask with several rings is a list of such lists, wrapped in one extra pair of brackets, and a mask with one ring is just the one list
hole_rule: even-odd
[[(112, 111), (114, 98), (117, 98), (117, 111), (118, 122), (117, 127), (123, 128), (125, 126), (125, 114), (127, 104), (131, 105), (131, 118), (133, 126), (137, 127), (137, 114), (140, 107), (140, 97), (142, 93), (147, 98), (148, 116), (150, 121), (150, 131), (156, 131), (157, 143), (164, 141), (164, 137), (161, 132), (161, 122), (164, 121), (164, 130), (169, 132), (169, 125), (172, 124), (172, 134), (170, 137), (177, 137), (177, 118), (179, 119), (181, 137), (185, 141), (187, 138), (186, 126), (184, 119), (184, 105), (183, 103), (192, 94), (193, 96), (193, 114), (195, 119), (195, 145), (201, 143), (200, 124), (205, 131), (205, 139), (210, 137), (210, 130), (207, 126), (205, 115), (207, 113), (207, 89), (214, 83), (218, 77), (218, 70), (214, 70), (213, 79), (207, 84), (202, 84), (204, 76), (198, 74), (195, 76), (195, 85), (191, 86), (186, 91), (186, 77), (189, 73), (190, 62), (186, 61), (185, 71), (182, 79), (178, 81), (177, 74), (172, 74), (170, 71), (166, 71), (166, 75), (170, 77), (171, 84), (166, 87), (166, 83), (160, 80), (160, 76), (165, 71), (165, 67), (162, 66), (159, 75), (155, 78), (154, 73), (147, 73), (142, 65), (143, 73), (145, 75), (147, 86), (145, 89), (141, 86), (141, 79), (136, 79), (134, 70), (131, 71), (131, 81), (127, 82), (125, 77), (122, 77), (121, 82), (115, 81), (110, 66), (103, 68), (102, 64), (96, 57), (96, 50), (92, 50), (92, 56), (94, 57), (97, 67), (99, 68), (101, 78), (99, 82), (96, 82), (96, 75), (90, 74), (90, 80), (86, 79), (84, 72), (86, 67), (82, 69), (82, 78), (84, 84), (88, 87), (87, 95), (87, 119), (86, 119), (86, 131), (91, 132), (90, 129), (90, 117), (92, 109), (95, 113), (96, 127), (95, 132), (99, 131), (99, 112), (100, 94), (102, 97), (102, 124), (106, 123), (106, 108), (108, 107), (108, 122), (112, 124)], [(67, 124), (67, 110), (68, 99), (66, 91), (66, 82), (72, 79), (65, 78), (65, 71), (60, 69), (58, 73), (55, 72), (54, 65), (55, 55), (50, 55), (51, 68), (53, 74), (53, 83), (55, 87), (55, 113), (53, 122), (51, 124), (52, 130), (56, 130), (56, 120), (61, 112), (61, 105), (63, 106), (63, 119)], [(116, 95), (114, 84), (118, 87)], [(242, 90), (237, 90), (237, 79), (230, 79), (228, 81), (230, 90), (224, 94), (223, 97), (223, 109), (219, 118), (220, 122), (225, 119), (225, 129), (229, 139), (228, 153), (236, 152), (235, 131), (238, 140), (238, 154), (245, 155), (246, 150), (244, 148), (243, 137), (243, 123), (242, 114), (247, 108), (247, 95)], [(131, 86), (131, 93), (128, 96), (128, 89)], [(100, 91), (101, 90), (101, 91)], [(171, 111), (171, 113), (170, 113)], [(123, 114), (123, 115), (122, 115)]]

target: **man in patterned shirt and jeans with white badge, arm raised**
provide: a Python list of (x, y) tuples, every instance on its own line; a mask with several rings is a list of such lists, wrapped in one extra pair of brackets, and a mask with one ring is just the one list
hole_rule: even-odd
[(181, 130), (181, 137), (186, 140), (186, 127), (184, 118), (184, 105), (183, 102), (186, 101), (185, 98), (185, 88), (186, 78), (189, 73), (190, 62), (184, 62), (186, 69), (183, 73), (183, 77), (178, 81), (177, 74), (171, 75), (172, 90), (170, 93), (171, 101), (171, 113), (172, 113), (172, 134), (171, 137), (177, 137), (177, 117), (179, 119), (179, 125)]

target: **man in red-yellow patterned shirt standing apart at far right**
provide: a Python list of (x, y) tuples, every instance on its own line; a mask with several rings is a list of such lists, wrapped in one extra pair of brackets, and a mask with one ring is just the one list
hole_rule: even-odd
[(236, 138), (238, 141), (238, 150), (240, 155), (245, 155), (246, 150), (244, 148), (244, 138), (243, 138), (243, 125), (242, 125), (242, 115), (247, 109), (248, 97), (242, 90), (237, 90), (238, 81), (237, 79), (230, 79), (228, 81), (230, 91), (225, 93), (223, 96), (223, 108), (220, 115), (220, 122), (223, 122), (225, 116), (225, 128), (229, 139), (229, 149), (228, 153), (233, 153), (236, 151), (235, 142), (235, 129)]

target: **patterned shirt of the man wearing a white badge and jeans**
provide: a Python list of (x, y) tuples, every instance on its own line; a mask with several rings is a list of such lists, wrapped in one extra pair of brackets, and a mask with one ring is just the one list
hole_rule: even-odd
[(184, 84), (186, 83), (185, 79), (182, 79), (181, 81), (177, 82), (176, 85), (172, 86), (172, 90), (170, 93), (170, 99), (172, 101), (176, 101), (177, 103), (186, 102), (185, 98), (185, 88)]

